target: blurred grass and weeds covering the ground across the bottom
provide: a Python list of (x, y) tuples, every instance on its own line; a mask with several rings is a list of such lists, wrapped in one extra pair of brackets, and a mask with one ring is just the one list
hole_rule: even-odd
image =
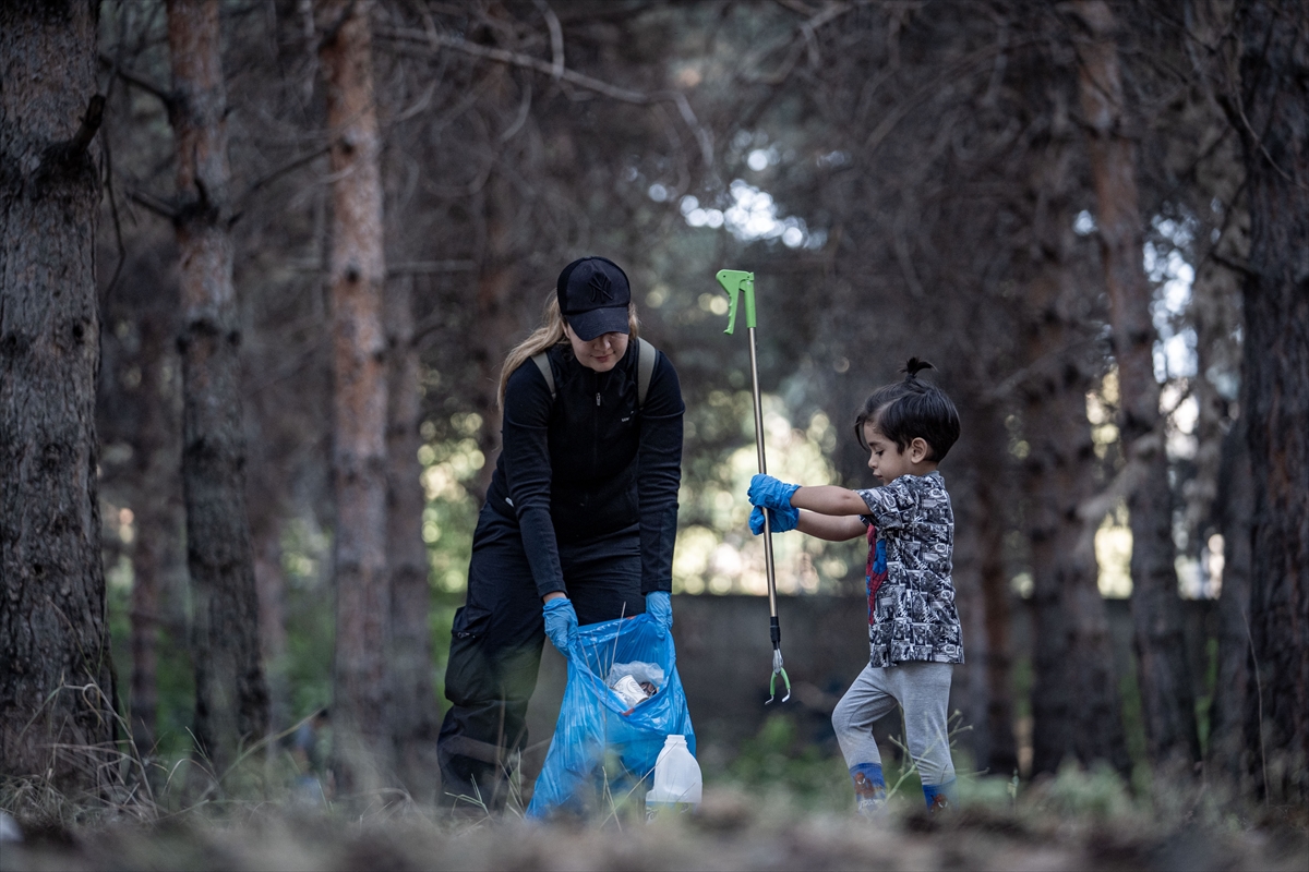
[[(191, 792), (181, 763), (156, 794), (123, 779), (101, 796), (65, 797), (37, 779), (10, 779), (0, 784), (0, 808), (18, 818), (25, 841), (3, 846), (0, 872), (1309, 867), (1309, 809), (1242, 803), (1203, 780), (1161, 791), (1156, 777), (1143, 794), (1109, 769), (1066, 766), (1018, 784), (961, 769), (956, 809), (933, 817), (912, 767), (899, 767), (894, 753), (884, 760), (895, 790), (876, 821), (851, 813), (844, 763), (785, 716), (708, 774), (698, 813), (651, 824), (617, 796), (588, 817), (530, 822), (521, 783), (500, 816), (479, 813), (478, 797), (452, 814), (395, 790), (312, 804), (295, 790), (289, 758), (262, 753), (224, 779), (232, 788), (223, 801)], [(110, 762), (127, 773), (136, 765)]]

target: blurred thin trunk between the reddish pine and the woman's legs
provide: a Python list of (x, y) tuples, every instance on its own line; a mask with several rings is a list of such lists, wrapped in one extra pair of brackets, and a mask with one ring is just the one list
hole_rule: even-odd
[(386, 553), (391, 584), (391, 735), (397, 771), (420, 801), (436, 799), (436, 735), (440, 719), (432, 686), (432, 612), (423, 544), (423, 467), (419, 357), (414, 348), (412, 276), (394, 278), (386, 294), (390, 346), (386, 431)]

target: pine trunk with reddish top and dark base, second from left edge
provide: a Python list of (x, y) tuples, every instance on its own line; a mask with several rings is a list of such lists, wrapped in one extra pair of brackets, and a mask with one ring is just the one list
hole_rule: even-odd
[(245, 509), (241, 332), (232, 284), (226, 89), (217, 0), (169, 0), (181, 255), (182, 488), (191, 575), (195, 737), (221, 778), (268, 729)]

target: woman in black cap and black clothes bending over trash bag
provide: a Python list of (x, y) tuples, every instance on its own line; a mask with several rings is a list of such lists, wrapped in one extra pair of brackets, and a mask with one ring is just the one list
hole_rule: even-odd
[[(556, 292), (500, 375), (503, 446), (445, 672), (453, 707), (439, 745), (442, 792), (491, 809), (503, 807), (509, 757), (526, 744), (545, 637), (564, 650), (579, 624), (641, 612), (673, 626), (685, 411), (677, 373), (636, 340), (631, 286), (617, 264), (575, 260)], [(654, 356), (644, 401), (643, 345)]]

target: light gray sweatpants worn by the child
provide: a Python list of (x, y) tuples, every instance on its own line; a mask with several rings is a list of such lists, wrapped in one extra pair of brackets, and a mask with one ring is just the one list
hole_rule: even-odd
[(846, 765), (881, 765), (873, 741), (873, 722), (890, 714), (899, 703), (905, 710), (905, 732), (910, 754), (918, 763), (924, 784), (944, 784), (954, 778), (950, 761), (949, 663), (910, 662), (893, 667), (864, 667), (850, 690), (831, 713), (831, 726)]

